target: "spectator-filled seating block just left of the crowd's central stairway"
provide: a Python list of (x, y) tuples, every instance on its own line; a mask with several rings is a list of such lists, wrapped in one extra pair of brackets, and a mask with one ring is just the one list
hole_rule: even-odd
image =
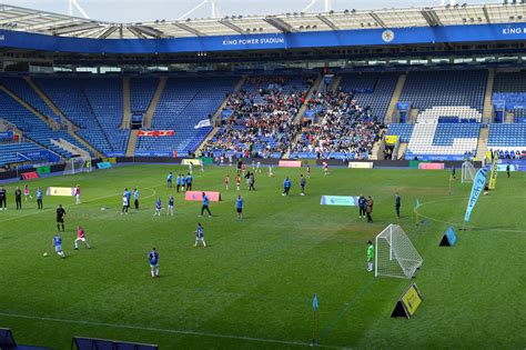
[(213, 157), (279, 158), (294, 141), (294, 119), (304, 103), (312, 79), (301, 76), (261, 76), (246, 79), (227, 96), (224, 127), (204, 148)]

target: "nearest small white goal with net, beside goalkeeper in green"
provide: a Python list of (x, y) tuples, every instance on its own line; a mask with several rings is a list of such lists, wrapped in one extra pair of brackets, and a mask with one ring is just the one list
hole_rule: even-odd
[(374, 276), (412, 278), (424, 260), (398, 224), (390, 224), (376, 236)]

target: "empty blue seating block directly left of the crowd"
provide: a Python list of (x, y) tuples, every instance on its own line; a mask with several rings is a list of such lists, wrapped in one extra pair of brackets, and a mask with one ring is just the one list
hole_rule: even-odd
[(210, 118), (239, 77), (170, 78), (153, 114), (151, 129), (174, 130), (174, 136), (139, 137), (135, 154), (180, 154), (193, 152), (211, 128), (194, 129)]

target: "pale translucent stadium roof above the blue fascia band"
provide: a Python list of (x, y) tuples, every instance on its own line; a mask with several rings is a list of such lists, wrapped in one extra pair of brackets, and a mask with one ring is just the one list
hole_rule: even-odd
[(155, 39), (346, 29), (437, 27), (526, 21), (526, 4), (463, 4), (438, 8), (345, 10), (326, 13), (224, 17), (113, 23), (0, 4), (0, 29), (59, 37)]

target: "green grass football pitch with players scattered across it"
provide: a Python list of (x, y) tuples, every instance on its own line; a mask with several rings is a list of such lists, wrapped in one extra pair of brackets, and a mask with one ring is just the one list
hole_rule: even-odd
[[(250, 167), (249, 167), (249, 170)], [(306, 196), (304, 169), (266, 168), (256, 191), (242, 180), (242, 221), (236, 220), (235, 170), (194, 168), (194, 190), (221, 191), (212, 218), (201, 202), (184, 201), (166, 188), (181, 166), (125, 166), (90, 174), (51, 177), (37, 187), (82, 189), (71, 197), (44, 197), (43, 210), (23, 201), (14, 210), (16, 183), (7, 186), (8, 211), (0, 212), (0, 327), (19, 343), (69, 349), (71, 337), (108, 338), (174, 348), (308, 347), (314, 293), (318, 297), (315, 338), (334, 348), (498, 348), (526, 346), (526, 173), (499, 173), (497, 188), (479, 198), (466, 231), (453, 248), (438, 243), (449, 226), (462, 224), (471, 183), (449, 172), (313, 168)], [(230, 174), (230, 190), (224, 177)], [(285, 176), (291, 197), (282, 197)], [(121, 216), (124, 188), (141, 191), (140, 210)], [(394, 193), (402, 197), (402, 218)], [(45, 190), (44, 190), (45, 192)], [(153, 217), (175, 196), (173, 217)], [(372, 196), (374, 223), (356, 207), (321, 206), (322, 194)], [(415, 199), (425, 221), (415, 224)], [(67, 259), (51, 247), (55, 208), (67, 211), (61, 232)], [(101, 210), (101, 208), (107, 208)], [(201, 222), (209, 247), (194, 248)], [(390, 223), (407, 232), (424, 259), (413, 280), (374, 278), (366, 271), (366, 242)], [(73, 250), (75, 228), (92, 246)], [(159, 279), (146, 254), (160, 253)], [(48, 252), (48, 257), (43, 253)], [(403, 291), (416, 283), (423, 303), (411, 319), (392, 319)]]

